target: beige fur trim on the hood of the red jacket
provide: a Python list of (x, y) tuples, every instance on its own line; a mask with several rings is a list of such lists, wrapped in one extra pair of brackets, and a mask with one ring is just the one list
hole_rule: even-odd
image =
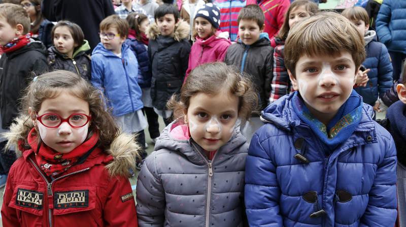
[[(15, 119), (15, 123), (10, 126), (9, 133), (3, 136), (8, 140), (6, 149), (15, 148), (17, 156), (31, 149), (27, 142), (27, 136), (31, 128), (32, 121), (28, 115), (21, 115)], [(102, 161), (109, 160), (106, 165), (111, 176), (129, 176), (129, 170), (135, 170), (136, 157), (140, 146), (134, 142), (131, 135), (120, 133), (104, 152), (112, 158), (102, 158)]]

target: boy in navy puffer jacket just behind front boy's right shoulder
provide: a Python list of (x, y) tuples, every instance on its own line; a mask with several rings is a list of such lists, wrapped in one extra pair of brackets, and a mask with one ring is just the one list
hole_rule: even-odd
[[(369, 79), (362, 86), (357, 83), (355, 91), (362, 96), (363, 102), (371, 106), (375, 105), (378, 97), (382, 97), (384, 93), (393, 85), (392, 78), (392, 63), (388, 49), (385, 45), (376, 42), (377, 33), (369, 29), (369, 17), (364, 8), (356, 6), (345, 9), (342, 13), (349, 19), (362, 34), (365, 41), (366, 59), (362, 62), (363, 70), (369, 69), (365, 76)], [(358, 80), (362, 81), (362, 72), (358, 74)], [(379, 94), (379, 96), (378, 96)]]

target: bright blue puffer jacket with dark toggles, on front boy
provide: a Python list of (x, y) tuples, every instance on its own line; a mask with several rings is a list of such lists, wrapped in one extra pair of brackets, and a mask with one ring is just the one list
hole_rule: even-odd
[(293, 94), (262, 112), (267, 123), (251, 140), (245, 175), (250, 226), (393, 226), (396, 149), (371, 119), (372, 108), (364, 104), (355, 132), (326, 156), (293, 111)]

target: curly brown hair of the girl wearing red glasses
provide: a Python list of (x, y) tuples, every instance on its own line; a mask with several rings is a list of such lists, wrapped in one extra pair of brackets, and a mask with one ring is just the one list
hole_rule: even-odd
[[(85, 79), (69, 71), (57, 70), (43, 74), (28, 85), (21, 102), (20, 117), (26, 118), (24, 124), (30, 122), (27, 115), (29, 108), (32, 112), (38, 112), (44, 100), (56, 98), (62, 91), (68, 91), (89, 104), (92, 116), (89, 133), (97, 130), (100, 146), (109, 149), (110, 144), (119, 135), (120, 129), (114, 118), (105, 110), (103, 94)], [(24, 127), (24, 130), (20, 132), (21, 138), (25, 140), (32, 128), (28, 126), (29, 124), (26, 125), (27, 127)], [(40, 139), (40, 137), (38, 138)], [(25, 143), (27, 144), (27, 141)]]

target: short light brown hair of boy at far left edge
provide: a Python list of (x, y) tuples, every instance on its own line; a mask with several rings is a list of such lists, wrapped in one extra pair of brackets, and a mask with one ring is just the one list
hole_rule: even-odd
[(20, 5), (11, 3), (0, 4), (0, 17), (6, 19), (7, 23), (12, 27), (21, 24), (23, 26), (22, 35), (27, 34), (31, 26), (27, 12), (25, 12), (24, 8)]

